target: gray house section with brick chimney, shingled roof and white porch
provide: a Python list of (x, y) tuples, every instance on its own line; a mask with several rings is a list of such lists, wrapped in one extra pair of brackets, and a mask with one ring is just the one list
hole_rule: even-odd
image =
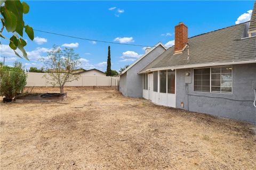
[(190, 38), (181, 22), (175, 45), (141, 66), (137, 74), (143, 79), (126, 88), (143, 89), (143, 98), (157, 105), (255, 123), (255, 33), (256, 4), (251, 21)]

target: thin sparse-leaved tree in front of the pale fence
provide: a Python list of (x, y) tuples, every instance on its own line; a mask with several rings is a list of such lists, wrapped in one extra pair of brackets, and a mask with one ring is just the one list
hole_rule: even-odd
[(78, 80), (80, 77), (79, 74), (73, 74), (74, 70), (81, 65), (79, 55), (75, 54), (73, 48), (61, 49), (53, 46), (47, 58), (42, 58), (42, 62), (50, 75), (45, 76), (47, 82), (50, 82), (52, 86), (58, 86), (61, 94), (66, 82)]

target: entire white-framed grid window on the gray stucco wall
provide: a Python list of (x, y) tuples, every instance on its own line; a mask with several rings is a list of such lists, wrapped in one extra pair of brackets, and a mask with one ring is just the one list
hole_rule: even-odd
[(232, 93), (232, 66), (194, 69), (194, 91)]

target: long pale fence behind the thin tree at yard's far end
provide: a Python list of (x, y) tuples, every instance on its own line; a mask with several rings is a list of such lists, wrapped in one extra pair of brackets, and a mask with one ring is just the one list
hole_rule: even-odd
[[(48, 73), (27, 73), (26, 86), (52, 86), (49, 82), (50, 75)], [(46, 79), (46, 77), (47, 79)], [(67, 82), (65, 86), (117, 86), (119, 77), (101, 77), (93, 75), (84, 75), (72, 82)]]

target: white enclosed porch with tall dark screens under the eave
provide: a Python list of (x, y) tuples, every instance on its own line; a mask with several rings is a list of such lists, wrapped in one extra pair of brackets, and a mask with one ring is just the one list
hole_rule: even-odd
[(143, 74), (143, 98), (157, 105), (175, 107), (175, 70), (161, 70)]

